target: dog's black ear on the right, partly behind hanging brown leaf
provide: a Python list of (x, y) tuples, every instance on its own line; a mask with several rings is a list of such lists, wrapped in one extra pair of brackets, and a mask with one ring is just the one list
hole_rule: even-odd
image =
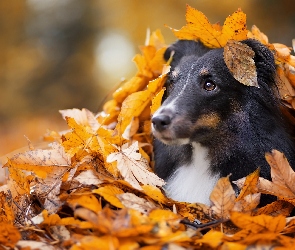
[(265, 45), (254, 39), (247, 39), (242, 43), (247, 44), (255, 52), (254, 61), (258, 84), (274, 85), (276, 66), (273, 53)]

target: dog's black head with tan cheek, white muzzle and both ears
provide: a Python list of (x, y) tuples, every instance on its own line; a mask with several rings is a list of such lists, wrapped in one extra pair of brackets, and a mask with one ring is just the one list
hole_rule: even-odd
[(234, 115), (248, 119), (257, 106), (271, 112), (277, 105), (274, 57), (258, 41), (243, 43), (255, 52), (259, 88), (235, 80), (224, 62), (223, 48), (209, 50), (199, 42), (178, 41), (167, 49), (165, 59), (173, 58), (171, 71), (162, 106), (152, 117), (157, 139), (168, 145), (202, 143), (231, 126)]

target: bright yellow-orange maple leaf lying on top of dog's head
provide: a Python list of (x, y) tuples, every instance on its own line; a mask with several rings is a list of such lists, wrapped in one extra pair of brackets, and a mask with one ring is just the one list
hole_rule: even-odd
[(187, 5), (186, 26), (180, 30), (173, 30), (178, 39), (200, 40), (209, 48), (224, 47), (228, 40), (244, 40), (247, 38), (246, 15), (237, 10), (228, 16), (220, 27), (211, 24), (200, 11)]

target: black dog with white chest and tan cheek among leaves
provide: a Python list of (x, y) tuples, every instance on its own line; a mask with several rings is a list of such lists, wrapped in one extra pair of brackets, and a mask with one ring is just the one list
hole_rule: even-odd
[(181, 40), (172, 53), (165, 98), (152, 117), (155, 171), (166, 180), (175, 200), (209, 204), (216, 181), (231, 174), (245, 177), (260, 167), (270, 179), (265, 153), (283, 152), (295, 166), (294, 144), (279, 108), (274, 56), (255, 40), (259, 88), (234, 79), (223, 59), (223, 48)]

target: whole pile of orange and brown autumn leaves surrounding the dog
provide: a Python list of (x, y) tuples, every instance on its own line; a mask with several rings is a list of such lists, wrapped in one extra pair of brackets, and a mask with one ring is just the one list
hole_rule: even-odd
[[(225, 47), (225, 61), (237, 56), (245, 62), (242, 71), (251, 79), (240, 79), (240, 69), (230, 70), (246, 85), (256, 86), (256, 69), (252, 52), (238, 41), (251, 37), (268, 46), (276, 55), (281, 97), (295, 109), (295, 58), (288, 47), (269, 44), (256, 27), (248, 31), (241, 10), (223, 26), (210, 24), (189, 6), (186, 19), (186, 26), (174, 30), (176, 36)], [(235, 182), (241, 189), (236, 196), (229, 177), (221, 178), (210, 207), (177, 202), (162, 192), (165, 183), (152, 172), (150, 117), (164, 93), (166, 47), (160, 31), (154, 32), (134, 58), (137, 74), (113, 93), (102, 112), (60, 111), (68, 131), (48, 132), (47, 149), (30, 148), (8, 159), (9, 180), (0, 187), (0, 249), (295, 246), (295, 218), (288, 217), (295, 206), (295, 173), (276, 150), (266, 154), (272, 181), (259, 177), (258, 169)], [(261, 194), (278, 200), (257, 208)]]

